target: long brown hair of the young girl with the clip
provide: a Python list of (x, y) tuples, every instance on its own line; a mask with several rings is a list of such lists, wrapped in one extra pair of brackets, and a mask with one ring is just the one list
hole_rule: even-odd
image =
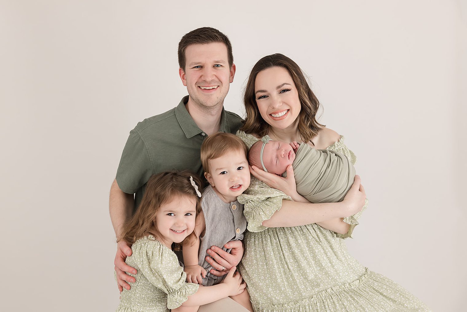
[[(156, 227), (156, 215), (159, 208), (170, 203), (177, 196), (186, 196), (196, 201), (196, 215), (201, 212), (201, 198), (196, 194), (191, 185), (190, 176), (193, 177), (199, 191), (203, 191), (203, 181), (198, 174), (189, 170), (171, 170), (151, 176), (146, 184), (140, 206), (134, 215), (123, 224), (122, 235), (117, 241), (124, 240), (133, 245), (137, 239), (147, 235), (161, 237)], [(196, 237), (195, 231), (188, 235), (178, 246)]]

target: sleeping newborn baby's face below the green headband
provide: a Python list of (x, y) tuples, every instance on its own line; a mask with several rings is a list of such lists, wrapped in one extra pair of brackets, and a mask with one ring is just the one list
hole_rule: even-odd
[(264, 167), (273, 174), (283, 174), (295, 159), (295, 152), (289, 143), (270, 140), (264, 145)]

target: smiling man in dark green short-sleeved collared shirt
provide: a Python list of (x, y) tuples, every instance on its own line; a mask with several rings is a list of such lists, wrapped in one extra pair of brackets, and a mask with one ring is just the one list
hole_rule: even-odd
[[(117, 175), (110, 189), (110, 218), (117, 237), (122, 224), (131, 217), (144, 194), (149, 177), (170, 169), (191, 169), (203, 176), (199, 150), (203, 140), (215, 132), (235, 133), (241, 117), (223, 109), (224, 99), (235, 75), (232, 45), (227, 36), (210, 27), (195, 29), (178, 44), (179, 75), (188, 96), (169, 111), (147, 118), (130, 131), (120, 159)], [(224, 275), (237, 265), (243, 254), (241, 241), (228, 243), (228, 254), (212, 247), (209, 263), (218, 268), (214, 275)], [(136, 270), (125, 263), (131, 247), (117, 244), (115, 271), (119, 290), (130, 289)]]

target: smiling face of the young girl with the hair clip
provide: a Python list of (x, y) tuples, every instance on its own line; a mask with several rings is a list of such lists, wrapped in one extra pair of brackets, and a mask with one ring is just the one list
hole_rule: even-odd
[(161, 243), (171, 248), (172, 243), (180, 243), (195, 228), (196, 200), (189, 196), (175, 196), (159, 207), (156, 214), (156, 227), (163, 237)]

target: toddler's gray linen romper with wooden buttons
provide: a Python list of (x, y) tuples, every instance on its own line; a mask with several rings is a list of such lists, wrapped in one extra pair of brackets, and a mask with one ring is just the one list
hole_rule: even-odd
[[(211, 185), (205, 188), (201, 196), (201, 208), (205, 216), (205, 233), (199, 238), (198, 264), (205, 268), (207, 274), (203, 278), (203, 286), (211, 286), (220, 283), (225, 277), (215, 276), (209, 273), (212, 266), (206, 261), (208, 248), (221, 247), (230, 253), (230, 249), (224, 247), (231, 240), (243, 239), (243, 232), (247, 229), (247, 219), (243, 215), (243, 204), (238, 201), (224, 203)], [(215, 268), (214, 268), (215, 269)]]

